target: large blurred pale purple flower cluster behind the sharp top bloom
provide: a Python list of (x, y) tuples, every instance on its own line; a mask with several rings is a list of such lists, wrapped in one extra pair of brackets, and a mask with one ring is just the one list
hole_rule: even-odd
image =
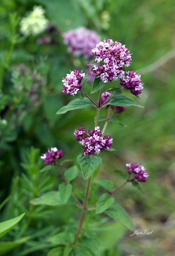
[(63, 33), (64, 44), (68, 45), (68, 52), (74, 56), (84, 55), (85, 58), (92, 56), (92, 48), (100, 38), (94, 32), (87, 28), (80, 27), (75, 30), (69, 30)]

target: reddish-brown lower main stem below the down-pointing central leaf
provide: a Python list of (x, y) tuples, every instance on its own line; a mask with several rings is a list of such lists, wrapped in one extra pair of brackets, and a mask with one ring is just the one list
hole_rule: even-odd
[(84, 196), (83, 212), (82, 212), (82, 215), (81, 215), (81, 218), (80, 218), (80, 223), (79, 223), (79, 226), (78, 226), (78, 230), (76, 232), (74, 244), (76, 243), (76, 240), (77, 240), (77, 238), (80, 234), (80, 231), (81, 231), (81, 228), (82, 228), (82, 225), (83, 225), (83, 221), (84, 221), (84, 217), (86, 215), (86, 211), (87, 211), (86, 206), (87, 206), (87, 202), (88, 202), (90, 184), (91, 184), (91, 177), (87, 181), (86, 192), (85, 192), (85, 196)]

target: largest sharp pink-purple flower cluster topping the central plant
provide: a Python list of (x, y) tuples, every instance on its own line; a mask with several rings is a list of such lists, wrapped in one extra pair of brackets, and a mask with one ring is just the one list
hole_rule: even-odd
[(124, 74), (123, 65), (128, 67), (131, 62), (131, 54), (125, 45), (113, 42), (112, 39), (99, 42), (92, 49), (95, 60), (103, 65), (94, 65), (93, 76), (100, 76), (104, 83), (118, 79), (120, 74)]

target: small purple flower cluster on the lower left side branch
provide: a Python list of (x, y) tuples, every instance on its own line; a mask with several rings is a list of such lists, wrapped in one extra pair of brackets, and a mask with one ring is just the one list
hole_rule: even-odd
[(54, 147), (54, 148), (48, 149), (47, 152), (42, 154), (41, 159), (46, 165), (48, 165), (48, 164), (55, 163), (55, 160), (62, 158), (63, 155), (64, 154), (62, 149), (59, 150), (58, 148)]

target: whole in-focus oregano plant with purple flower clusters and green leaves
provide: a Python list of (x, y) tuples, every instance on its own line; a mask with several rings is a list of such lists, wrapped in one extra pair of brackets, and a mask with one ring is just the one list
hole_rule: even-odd
[[(71, 100), (67, 106), (60, 108), (57, 112), (57, 114), (65, 114), (68, 111), (81, 108), (96, 108), (96, 116), (89, 127), (84, 127), (80, 123), (79, 128), (75, 127), (75, 131), (72, 131), (72, 139), (74, 138), (80, 143), (77, 156), (79, 166), (73, 165), (66, 169), (64, 166), (69, 160), (64, 160), (62, 149), (53, 145), (46, 153), (42, 154), (41, 158), (45, 165), (53, 165), (60, 172), (62, 180), (58, 184), (58, 191), (50, 191), (30, 201), (34, 205), (64, 207), (72, 204), (77, 206), (78, 223), (75, 221), (72, 226), (65, 226), (57, 235), (49, 238), (49, 242), (53, 244), (54, 248), (48, 253), (48, 256), (102, 255), (103, 242), (96, 236), (97, 229), (93, 227), (93, 221), (100, 220), (105, 223), (112, 218), (133, 231), (134, 225), (130, 217), (119, 204), (120, 202), (115, 202), (114, 195), (129, 182), (141, 190), (139, 182), (146, 182), (148, 177), (143, 165), (135, 162), (126, 164), (127, 174), (115, 170), (117, 176), (124, 180), (123, 185), (118, 188), (115, 188), (112, 180), (98, 180), (93, 177), (93, 173), (97, 169), (99, 170), (100, 164), (102, 164), (100, 156), (105, 154), (106, 150), (115, 150), (113, 139), (106, 132), (108, 123), (112, 121), (115, 124), (121, 124), (116, 116), (125, 111), (126, 107), (142, 108), (136, 101), (123, 95), (123, 92), (130, 90), (133, 95), (139, 97), (143, 84), (139, 74), (125, 70), (125, 67), (130, 66), (131, 63), (131, 53), (125, 45), (113, 42), (111, 39), (104, 40), (92, 49), (92, 54), (95, 59), (89, 65), (93, 69), (94, 81), (90, 95), (85, 92), (87, 75), (83, 70), (70, 71), (62, 80), (62, 92), (70, 97), (77, 96), (77, 98)], [(119, 83), (113, 88), (105, 90), (105, 86), (112, 81), (119, 81)], [(96, 101), (91, 99), (91, 94), (95, 92), (98, 93)], [(101, 115), (101, 111), (106, 115)], [(102, 128), (99, 126), (100, 121), (105, 121)], [(80, 177), (80, 168), (82, 171), (81, 181), (83, 180), (84, 184), (84, 198), (75, 193), (72, 185), (72, 181), (78, 176)], [(46, 169), (48, 170), (48, 167)], [(91, 189), (96, 192), (95, 186), (104, 188), (105, 193), (93, 195), (91, 198)]]

